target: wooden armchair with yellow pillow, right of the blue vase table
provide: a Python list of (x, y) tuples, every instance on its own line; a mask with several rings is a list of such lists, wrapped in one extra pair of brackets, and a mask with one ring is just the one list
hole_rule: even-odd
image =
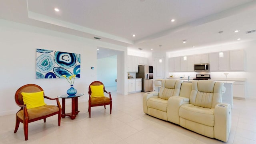
[[(109, 94), (109, 98), (104, 96), (104, 92)], [(105, 90), (104, 84), (100, 81), (94, 81), (90, 84), (89, 86), (89, 106), (88, 106), (88, 112), (89, 116), (91, 117), (91, 107), (93, 106), (104, 106), (106, 109), (106, 105), (110, 104), (110, 114), (112, 111), (112, 98), (111, 98), (111, 93), (107, 92)]]

